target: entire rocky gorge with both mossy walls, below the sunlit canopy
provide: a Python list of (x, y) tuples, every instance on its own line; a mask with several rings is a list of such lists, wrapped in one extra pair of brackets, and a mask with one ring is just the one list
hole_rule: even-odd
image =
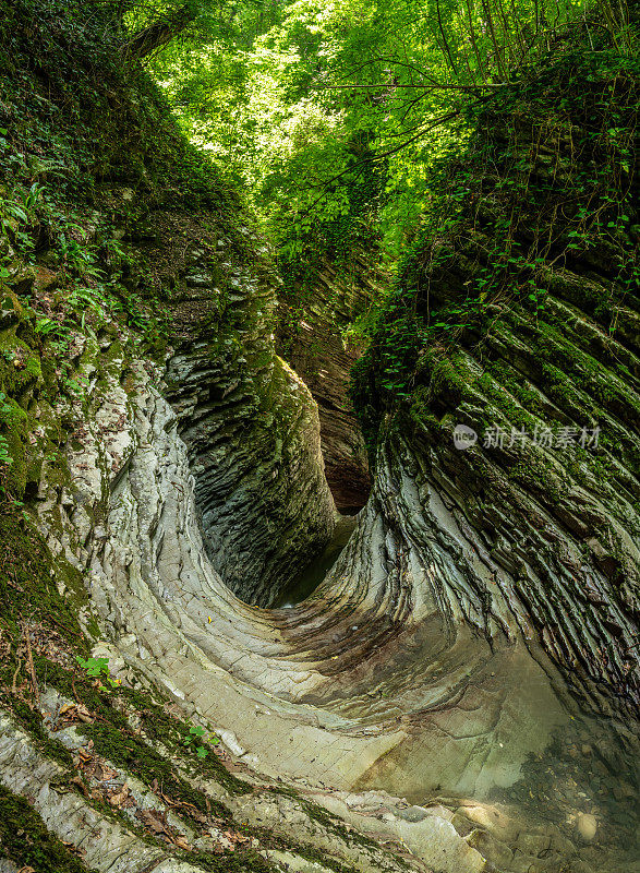
[(0, 871), (638, 870), (639, 77), (295, 307), (107, 5), (0, 0)]

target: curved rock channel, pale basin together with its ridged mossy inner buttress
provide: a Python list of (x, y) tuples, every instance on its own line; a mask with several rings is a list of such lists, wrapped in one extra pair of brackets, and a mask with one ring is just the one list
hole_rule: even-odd
[[(240, 375), (219, 338), (185, 339), (165, 372), (112, 360), (70, 456), (74, 506), (41, 503), (49, 543), (90, 573), (112, 637), (97, 651), (213, 726), (239, 765), (421, 869), (630, 870), (631, 746), (579, 711), (508, 586), (481, 633), (468, 579), (491, 559), (401, 435), (313, 594), (247, 605), (281, 595), (336, 513), (315, 404), (265, 333), (268, 298), (240, 277), (234, 306), (253, 325)], [(90, 528), (107, 498), (108, 525)]]

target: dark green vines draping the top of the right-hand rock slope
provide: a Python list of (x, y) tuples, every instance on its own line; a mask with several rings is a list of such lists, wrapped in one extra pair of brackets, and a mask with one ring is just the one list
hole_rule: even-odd
[[(609, 290), (590, 299), (585, 282), (576, 303), (617, 334), (623, 309), (640, 300), (629, 172), (639, 83), (637, 58), (604, 44), (593, 51), (578, 27), (571, 50), (523, 71), (490, 105), (467, 107), (474, 136), (462, 155), (432, 165), (430, 208), (354, 373), (371, 445), (384, 409), (413, 404), (428, 416), (424, 381), (436, 380), (434, 396), (437, 368), (443, 374), (460, 346), (511, 323), (516, 312), (527, 313), (533, 333), (553, 330), (550, 292), (577, 264), (597, 264)], [(563, 364), (567, 372), (573, 366)], [(452, 370), (446, 382), (451, 396), (463, 390)]]

